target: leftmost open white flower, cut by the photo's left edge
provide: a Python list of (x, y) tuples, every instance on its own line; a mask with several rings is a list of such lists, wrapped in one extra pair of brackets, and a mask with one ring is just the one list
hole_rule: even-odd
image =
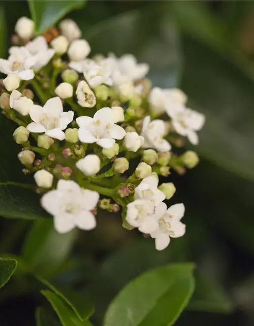
[(35, 76), (32, 68), (37, 59), (24, 46), (12, 46), (8, 60), (0, 59), (0, 72), (17, 74), (20, 79), (30, 80)]

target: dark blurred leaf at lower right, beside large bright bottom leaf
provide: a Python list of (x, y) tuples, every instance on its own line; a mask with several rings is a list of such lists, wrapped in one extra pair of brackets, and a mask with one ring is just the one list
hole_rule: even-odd
[(220, 313), (233, 311), (233, 303), (217, 282), (201, 274), (195, 279), (195, 292), (190, 299), (188, 309)]

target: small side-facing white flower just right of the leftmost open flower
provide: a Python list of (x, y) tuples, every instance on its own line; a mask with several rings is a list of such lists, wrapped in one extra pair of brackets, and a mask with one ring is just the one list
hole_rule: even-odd
[(33, 41), (27, 43), (25, 48), (36, 59), (33, 65), (34, 70), (39, 70), (46, 66), (55, 54), (54, 49), (48, 48), (48, 43), (44, 36), (37, 36)]

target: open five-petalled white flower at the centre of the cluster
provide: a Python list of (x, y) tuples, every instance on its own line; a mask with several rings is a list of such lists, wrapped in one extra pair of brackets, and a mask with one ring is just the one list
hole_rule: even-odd
[(115, 139), (123, 139), (125, 130), (114, 124), (111, 108), (103, 107), (97, 111), (93, 118), (79, 117), (76, 119), (79, 125), (79, 140), (82, 143), (97, 143), (103, 148), (111, 148)]

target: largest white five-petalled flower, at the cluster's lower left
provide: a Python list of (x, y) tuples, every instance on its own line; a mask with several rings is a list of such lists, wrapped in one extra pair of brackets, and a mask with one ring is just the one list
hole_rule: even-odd
[(71, 180), (59, 180), (56, 190), (42, 196), (42, 207), (54, 216), (57, 232), (66, 233), (78, 227), (92, 230), (96, 227), (96, 219), (91, 213), (99, 201), (99, 194), (81, 188)]

